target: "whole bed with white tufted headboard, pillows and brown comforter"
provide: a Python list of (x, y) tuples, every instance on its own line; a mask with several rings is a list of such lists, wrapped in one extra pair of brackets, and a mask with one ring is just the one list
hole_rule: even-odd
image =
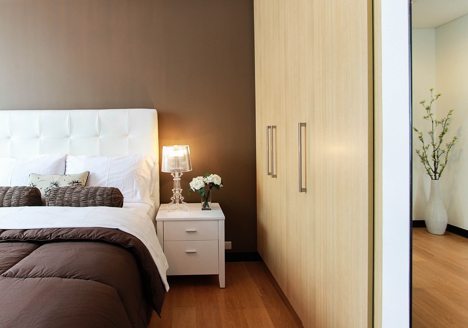
[(0, 327), (160, 314), (157, 154), (154, 109), (0, 111)]

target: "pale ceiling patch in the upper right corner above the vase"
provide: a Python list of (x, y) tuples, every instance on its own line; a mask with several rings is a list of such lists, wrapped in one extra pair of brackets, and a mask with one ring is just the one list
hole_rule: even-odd
[(435, 28), (468, 14), (468, 0), (412, 0), (412, 28)]

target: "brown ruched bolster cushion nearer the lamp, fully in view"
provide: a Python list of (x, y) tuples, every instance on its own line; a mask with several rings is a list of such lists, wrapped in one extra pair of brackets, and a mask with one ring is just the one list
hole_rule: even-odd
[(122, 207), (123, 195), (116, 187), (59, 187), (50, 190), (45, 205)]

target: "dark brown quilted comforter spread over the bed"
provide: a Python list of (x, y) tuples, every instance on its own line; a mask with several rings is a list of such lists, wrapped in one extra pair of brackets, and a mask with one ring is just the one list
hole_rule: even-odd
[(147, 248), (110, 228), (0, 229), (0, 327), (146, 327), (165, 289)]

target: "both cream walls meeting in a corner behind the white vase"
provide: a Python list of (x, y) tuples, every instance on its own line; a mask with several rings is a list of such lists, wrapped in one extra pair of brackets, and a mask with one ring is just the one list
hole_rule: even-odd
[[(422, 120), (424, 109), (419, 104), (429, 100), (429, 88), (442, 93), (437, 100), (436, 116), (442, 118), (455, 109), (452, 125), (444, 139), (453, 135), (460, 139), (449, 155), (448, 165), (440, 179), (448, 223), (468, 229), (468, 208), (463, 206), (468, 196), (468, 153), (463, 152), (468, 127), (468, 15), (450, 21), (435, 29), (412, 30), (413, 125), (429, 129)], [(426, 123), (426, 125), (424, 125)], [(413, 134), (413, 219), (424, 220), (429, 199), (430, 178), (414, 151), (420, 142)]]

